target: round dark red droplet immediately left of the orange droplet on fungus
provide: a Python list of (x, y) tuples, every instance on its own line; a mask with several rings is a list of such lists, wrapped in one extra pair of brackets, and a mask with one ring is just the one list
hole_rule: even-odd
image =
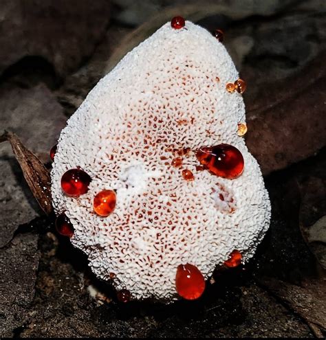
[(91, 177), (81, 169), (70, 169), (61, 177), (61, 188), (68, 196), (80, 196), (86, 194)]

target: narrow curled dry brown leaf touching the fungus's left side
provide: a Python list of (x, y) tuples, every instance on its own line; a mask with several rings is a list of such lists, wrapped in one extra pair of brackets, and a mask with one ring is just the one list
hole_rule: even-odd
[(23, 176), (25, 177), (32, 194), (39, 203), (41, 209), (43, 209), (43, 212), (50, 215), (53, 211), (50, 172), (33, 152), (23, 146), (16, 134), (5, 131), (3, 135), (0, 136), (0, 143), (3, 141), (10, 142), (14, 156), (21, 166)]

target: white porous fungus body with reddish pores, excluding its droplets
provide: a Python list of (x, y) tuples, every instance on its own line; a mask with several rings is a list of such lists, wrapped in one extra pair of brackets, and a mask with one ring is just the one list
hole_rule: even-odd
[[(72, 244), (87, 253), (92, 271), (107, 281), (115, 273), (113, 283), (133, 299), (173, 301), (179, 264), (195, 265), (208, 279), (234, 249), (248, 261), (268, 229), (268, 192), (237, 135), (243, 99), (226, 91), (238, 78), (224, 45), (204, 28), (166, 23), (96, 84), (61, 132), (54, 209), (70, 218)], [(195, 151), (221, 143), (243, 155), (237, 179), (196, 170)], [(171, 166), (184, 148), (182, 167)], [(91, 183), (72, 198), (61, 177), (77, 166)], [(184, 169), (193, 181), (182, 178)], [(101, 190), (116, 191), (108, 217), (93, 209)]]

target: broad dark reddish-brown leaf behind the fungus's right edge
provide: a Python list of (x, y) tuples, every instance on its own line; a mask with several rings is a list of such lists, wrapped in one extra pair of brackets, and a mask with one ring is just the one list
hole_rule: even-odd
[(266, 79), (245, 97), (246, 141), (263, 174), (311, 157), (326, 145), (325, 58), (324, 51), (301, 73), (278, 82)]

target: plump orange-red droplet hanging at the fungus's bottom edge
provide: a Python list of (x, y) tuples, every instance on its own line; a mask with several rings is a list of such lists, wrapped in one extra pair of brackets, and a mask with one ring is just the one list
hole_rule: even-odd
[(175, 288), (184, 299), (198, 299), (205, 290), (204, 276), (193, 264), (180, 264), (175, 275)]

